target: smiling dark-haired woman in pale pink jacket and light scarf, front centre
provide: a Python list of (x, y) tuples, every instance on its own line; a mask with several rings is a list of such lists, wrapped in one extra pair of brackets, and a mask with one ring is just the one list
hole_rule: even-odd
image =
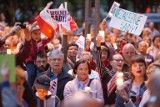
[(103, 92), (100, 82), (96, 79), (89, 79), (88, 77), (91, 73), (88, 61), (83, 59), (77, 61), (73, 72), (74, 74), (77, 74), (77, 77), (65, 85), (65, 100), (68, 100), (75, 92), (85, 91), (86, 93), (91, 94), (92, 97), (96, 98), (96, 101), (100, 105), (103, 105)]

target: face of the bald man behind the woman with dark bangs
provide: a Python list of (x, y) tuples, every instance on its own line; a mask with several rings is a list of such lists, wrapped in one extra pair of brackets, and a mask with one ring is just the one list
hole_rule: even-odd
[(132, 46), (127, 46), (123, 50), (123, 57), (127, 64), (130, 64), (132, 56), (135, 55), (135, 49)]

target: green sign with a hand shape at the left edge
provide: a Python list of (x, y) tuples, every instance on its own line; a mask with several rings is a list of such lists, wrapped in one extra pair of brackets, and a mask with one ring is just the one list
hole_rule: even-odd
[(0, 82), (2, 75), (9, 72), (9, 81), (15, 82), (15, 56), (14, 55), (0, 55)]

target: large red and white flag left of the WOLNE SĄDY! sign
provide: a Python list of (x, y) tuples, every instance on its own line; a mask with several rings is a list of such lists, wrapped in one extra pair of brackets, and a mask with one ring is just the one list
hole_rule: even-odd
[(47, 6), (40, 12), (39, 16), (36, 17), (41, 32), (47, 37), (52, 37), (54, 32), (58, 29), (58, 22), (47, 12), (47, 9), (51, 5), (52, 3), (47, 4)]

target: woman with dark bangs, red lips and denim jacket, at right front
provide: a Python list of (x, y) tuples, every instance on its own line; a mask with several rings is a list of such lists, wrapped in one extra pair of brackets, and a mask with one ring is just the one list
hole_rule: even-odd
[[(117, 89), (116, 107), (130, 107), (127, 104), (133, 102), (138, 107), (144, 92), (146, 91), (146, 63), (141, 55), (135, 55), (131, 60), (132, 79), (126, 81), (122, 89)], [(126, 95), (127, 94), (127, 95)]]

